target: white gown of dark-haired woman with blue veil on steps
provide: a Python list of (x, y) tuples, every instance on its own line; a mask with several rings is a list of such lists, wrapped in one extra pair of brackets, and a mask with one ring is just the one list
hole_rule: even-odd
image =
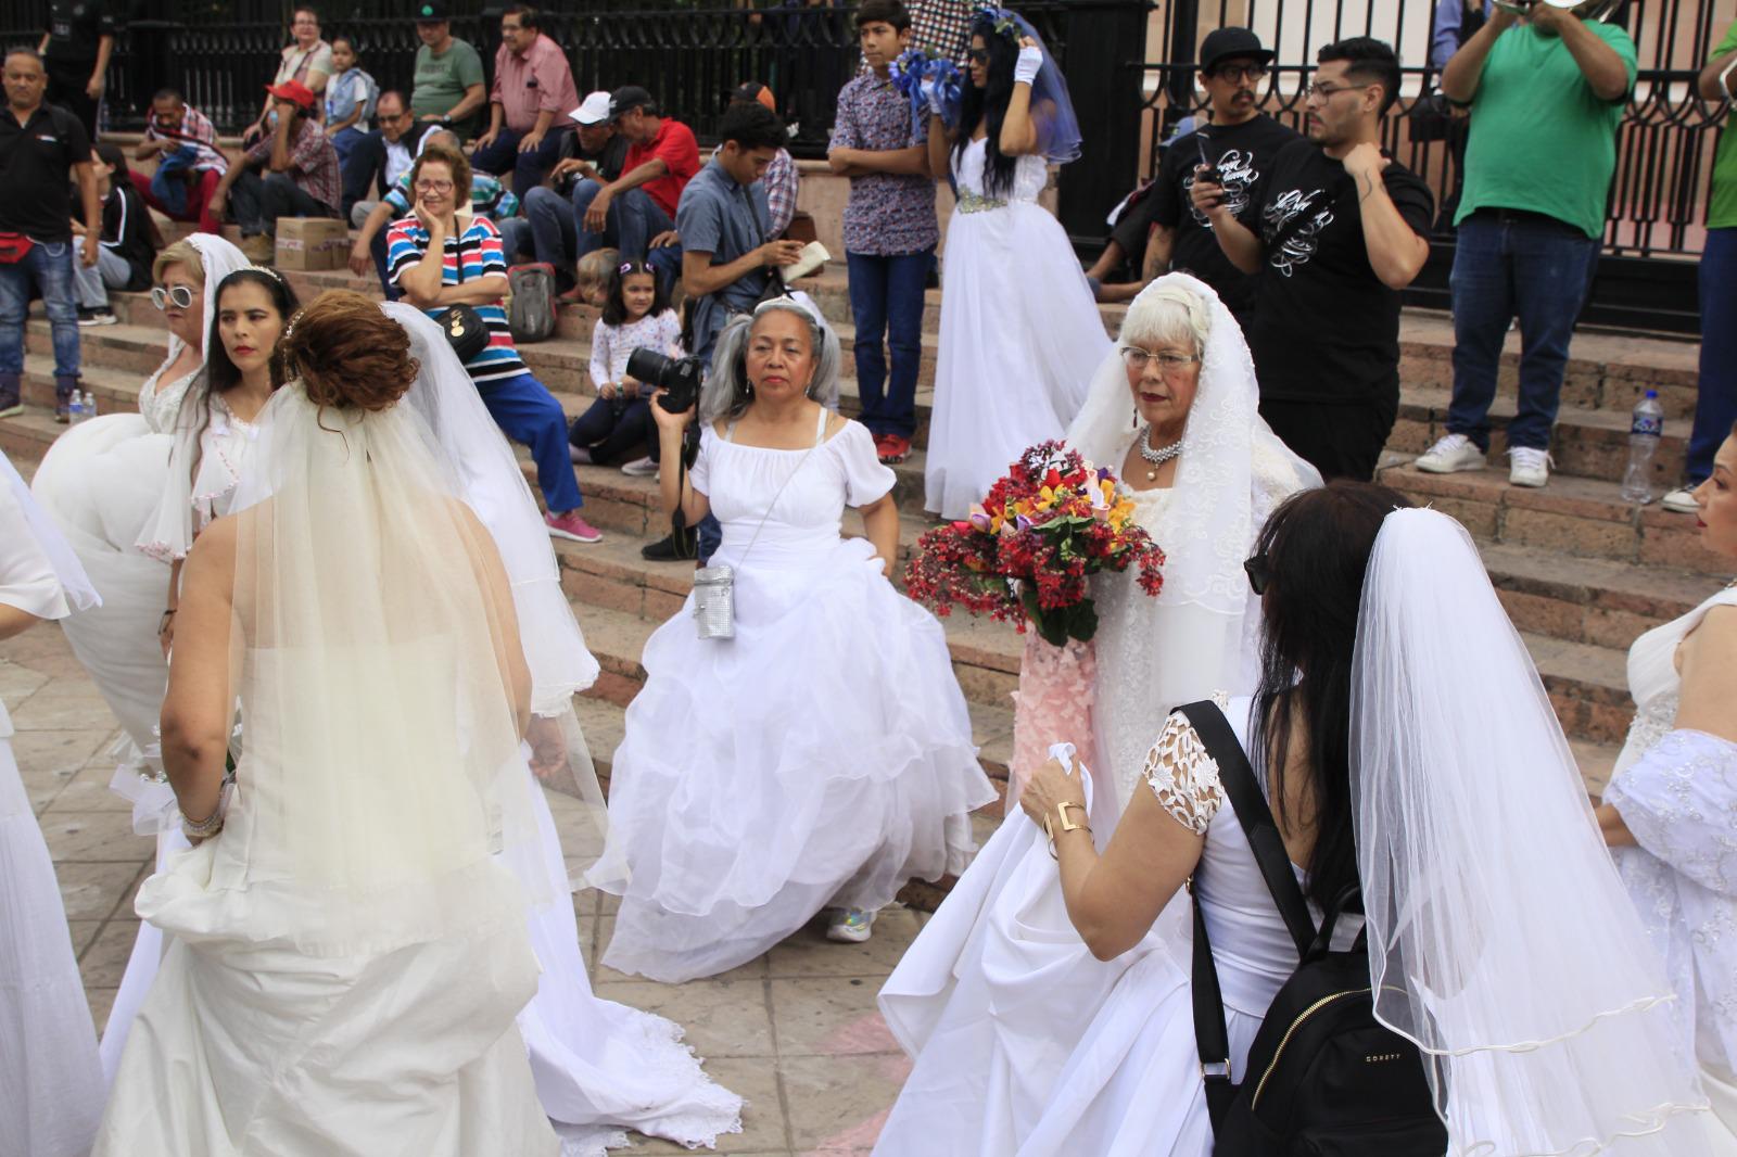
[(1110, 339), (1061, 222), (1037, 203), (1042, 156), (1020, 156), (1013, 188), (983, 193), (985, 142), (954, 163), (959, 205), (941, 264), (924, 506), (964, 518), (1027, 446), (1061, 438)]

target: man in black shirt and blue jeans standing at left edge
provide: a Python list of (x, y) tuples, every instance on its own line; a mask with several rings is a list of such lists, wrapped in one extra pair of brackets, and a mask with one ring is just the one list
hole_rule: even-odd
[[(73, 252), (85, 266), (97, 262), (102, 210), (90, 170), (90, 139), (78, 118), (45, 104), (49, 75), (30, 49), (14, 49), (3, 64), (5, 108), (0, 109), (0, 417), (19, 410), (24, 375), (24, 314), (31, 287), (42, 294), (54, 337), (54, 412), (66, 408), (78, 386), (78, 295)], [(73, 198), (78, 182), (82, 245), (73, 243)]]

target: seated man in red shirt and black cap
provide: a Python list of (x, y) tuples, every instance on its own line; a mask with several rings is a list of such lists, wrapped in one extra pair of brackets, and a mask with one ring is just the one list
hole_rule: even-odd
[(676, 228), (681, 191), (700, 172), (700, 144), (693, 129), (658, 116), (651, 94), (639, 85), (610, 96), (610, 120), (627, 137), (627, 169), (608, 184), (580, 182), (573, 189), (580, 229), (592, 235), (589, 241), (580, 238), (580, 252), (598, 248), (613, 233), (622, 261), (641, 261), (651, 238)]

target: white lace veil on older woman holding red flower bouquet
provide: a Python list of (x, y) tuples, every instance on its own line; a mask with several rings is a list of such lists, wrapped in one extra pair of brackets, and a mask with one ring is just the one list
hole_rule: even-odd
[(1159, 278), (1129, 306), (1120, 340), (1098, 365), (1086, 405), (1068, 426), (1068, 443), (1093, 464), (1120, 473), (1139, 433), (1122, 344), (1155, 328), (1153, 318), (1174, 307), (1186, 311), (1202, 361), (1176, 479), (1155, 523), (1146, 525), (1166, 556), (1164, 589), (1138, 603), (1141, 639), (1126, 648), (1126, 662), (1143, 669), (1100, 671), (1100, 679), (1145, 688), (1152, 709), (1152, 731), (1138, 752), (1113, 750), (1115, 737), (1106, 737), (1108, 749), (1100, 752), (1113, 764), (1124, 804), (1138, 757), (1172, 707), (1214, 691), (1252, 693), (1261, 605), (1242, 563), (1266, 516), (1298, 490), (1320, 485), (1315, 467), (1291, 453), (1261, 419), (1254, 361), (1230, 309), (1186, 273)]

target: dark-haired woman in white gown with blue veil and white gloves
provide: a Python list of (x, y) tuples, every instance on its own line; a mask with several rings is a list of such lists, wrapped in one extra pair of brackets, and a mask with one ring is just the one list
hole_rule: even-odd
[(971, 24), (957, 108), (929, 97), (929, 172), (959, 202), (941, 264), (941, 346), (924, 506), (964, 518), (1027, 446), (1060, 438), (1108, 351), (1061, 224), (1037, 203), (1049, 165), (1080, 155), (1067, 82), (1037, 33), (987, 9)]

